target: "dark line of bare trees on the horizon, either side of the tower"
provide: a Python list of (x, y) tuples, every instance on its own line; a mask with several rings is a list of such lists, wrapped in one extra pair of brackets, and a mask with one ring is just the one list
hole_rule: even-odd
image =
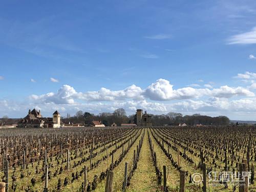
[[(67, 114), (67, 117), (62, 117), (62, 122), (90, 125), (93, 120), (99, 120), (106, 126), (111, 126), (113, 122), (117, 125), (121, 125), (121, 123), (135, 123), (134, 115), (127, 116), (125, 110), (122, 108), (115, 110), (113, 113), (99, 113), (98, 115), (78, 111), (74, 116)], [(183, 116), (181, 113), (174, 112), (163, 115), (150, 115), (152, 115), (153, 126), (179, 125), (180, 123), (186, 123), (187, 125), (229, 125), (229, 118), (226, 116), (209, 117), (200, 114)]]

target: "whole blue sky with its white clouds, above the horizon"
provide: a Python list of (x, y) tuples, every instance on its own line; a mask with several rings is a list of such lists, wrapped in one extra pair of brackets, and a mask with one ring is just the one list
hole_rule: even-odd
[(256, 120), (255, 20), (253, 0), (1, 1), (0, 117), (123, 107)]

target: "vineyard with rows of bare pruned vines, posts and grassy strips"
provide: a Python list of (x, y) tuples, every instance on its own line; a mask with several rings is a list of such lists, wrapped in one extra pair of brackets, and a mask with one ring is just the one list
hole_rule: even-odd
[(253, 127), (6, 129), (0, 152), (6, 191), (256, 191)]

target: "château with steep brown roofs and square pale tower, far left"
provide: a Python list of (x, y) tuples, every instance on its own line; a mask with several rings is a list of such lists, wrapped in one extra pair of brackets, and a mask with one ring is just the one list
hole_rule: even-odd
[(28, 115), (18, 122), (17, 127), (60, 127), (60, 114), (55, 111), (52, 117), (42, 117), (40, 110), (29, 110)]

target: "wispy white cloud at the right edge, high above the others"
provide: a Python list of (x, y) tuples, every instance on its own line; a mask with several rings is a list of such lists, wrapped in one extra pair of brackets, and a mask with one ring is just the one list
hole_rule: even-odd
[(228, 44), (256, 44), (256, 27), (249, 32), (231, 36)]

